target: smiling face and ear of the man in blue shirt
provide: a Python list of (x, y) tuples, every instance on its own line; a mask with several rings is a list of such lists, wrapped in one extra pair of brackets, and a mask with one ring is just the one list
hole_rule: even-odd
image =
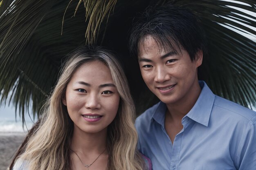
[(177, 52), (160, 49), (150, 35), (146, 36), (144, 45), (139, 44), (141, 75), (150, 91), (162, 102), (182, 104), (195, 96), (199, 86), (197, 68), (202, 64), (202, 53), (199, 51), (195, 62), (191, 62), (184, 49)]

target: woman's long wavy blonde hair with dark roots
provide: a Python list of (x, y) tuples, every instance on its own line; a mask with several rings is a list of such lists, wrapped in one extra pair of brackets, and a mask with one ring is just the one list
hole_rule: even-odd
[(105, 63), (120, 95), (117, 116), (108, 126), (107, 150), (109, 170), (144, 170), (144, 161), (136, 149), (135, 106), (126, 76), (115, 55), (99, 46), (84, 46), (69, 55), (52, 95), (43, 107), (39, 128), (29, 139), (19, 159), (27, 160), (29, 170), (71, 170), (70, 143), (73, 122), (62, 100), (67, 84), (85, 62)]

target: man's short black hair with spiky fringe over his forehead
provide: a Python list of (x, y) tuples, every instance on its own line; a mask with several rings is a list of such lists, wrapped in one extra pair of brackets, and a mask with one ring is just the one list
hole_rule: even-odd
[(155, 9), (148, 7), (135, 20), (129, 39), (132, 56), (138, 56), (139, 45), (144, 46), (147, 35), (156, 40), (160, 50), (186, 50), (192, 62), (198, 50), (206, 53), (204, 31), (195, 15), (187, 9), (169, 3)]

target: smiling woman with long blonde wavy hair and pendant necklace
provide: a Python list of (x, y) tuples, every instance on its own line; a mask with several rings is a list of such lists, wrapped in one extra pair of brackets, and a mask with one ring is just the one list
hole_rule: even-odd
[(114, 55), (101, 47), (77, 49), (13, 170), (150, 169), (136, 149), (134, 108)]

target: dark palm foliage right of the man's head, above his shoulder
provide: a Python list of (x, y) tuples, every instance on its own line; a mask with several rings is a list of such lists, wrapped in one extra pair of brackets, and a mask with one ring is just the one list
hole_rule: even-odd
[(249, 108), (256, 106), (256, 42), (236, 32), (256, 38), (254, 2), (184, 2), (176, 0), (174, 3), (189, 8), (200, 18), (208, 40), (209, 55), (204, 56), (200, 78), (217, 95)]

